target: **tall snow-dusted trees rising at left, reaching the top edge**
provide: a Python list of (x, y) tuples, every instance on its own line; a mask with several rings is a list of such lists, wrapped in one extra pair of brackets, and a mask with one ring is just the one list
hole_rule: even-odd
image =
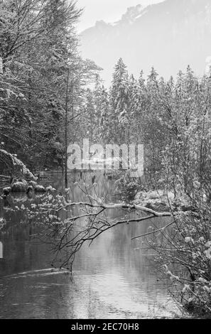
[(99, 71), (78, 50), (74, 1), (0, 1), (0, 159), (15, 154), (28, 168), (62, 167)]

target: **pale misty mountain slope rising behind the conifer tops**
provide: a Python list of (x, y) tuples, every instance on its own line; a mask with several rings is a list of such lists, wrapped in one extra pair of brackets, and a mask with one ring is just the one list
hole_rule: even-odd
[(211, 0), (166, 0), (127, 9), (115, 23), (97, 21), (81, 33), (82, 56), (112, 79), (114, 64), (123, 58), (134, 75), (148, 75), (154, 66), (166, 79), (190, 65), (198, 75), (211, 55)]

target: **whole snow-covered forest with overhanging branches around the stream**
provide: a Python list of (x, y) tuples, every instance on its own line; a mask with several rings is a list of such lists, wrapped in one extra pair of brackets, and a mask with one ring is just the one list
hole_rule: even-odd
[[(119, 58), (107, 87), (102, 68), (80, 55), (75, 24), (81, 14), (74, 1), (0, 1), (1, 199), (21, 183), (23, 191), (38, 190), (40, 171), (63, 173), (64, 192), (54, 197), (48, 186), (43, 202), (31, 204), (26, 214), (29, 220), (48, 222), (42, 238), (53, 240), (55, 266), (68, 269), (86, 242), (134, 221), (126, 216), (108, 222), (106, 210), (141, 211), (136, 217), (140, 224), (148, 217), (171, 217), (166, 226), (136, 239), (145, 238), (156, 252), (185, 311), (210, 317), (211, 68), (197, 77), (187, 64), (185, 72), (165, 80), (153, 67), (149, 73), (141, 71), (140, 63), (140, 75), (134, 77)], [(144, 144), (143, 178), (110, 171), (121, 194), (117, 203), (93, 194), (78, 203), (68, 198), (67, 146), (82, 145), (85, 138), (92, 144)], [(63, 219), (60, 212), (73, 206), (80, 212)], [(82, 217), (87, 225), (72, 237), (73, 225)], [(0, 232), (4, 228), (0, 217)], [(69, 254), (58, 265), (64, 249)]]

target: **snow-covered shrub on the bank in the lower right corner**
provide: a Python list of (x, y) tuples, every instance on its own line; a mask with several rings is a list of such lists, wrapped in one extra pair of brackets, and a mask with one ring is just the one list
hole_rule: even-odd
[(189, 205), (195, 210), (174, 212), (173, 225), (148, 244), (173, 282), (175, 299), (190, 313), (211, 316), (211, 206), (199, 193)]

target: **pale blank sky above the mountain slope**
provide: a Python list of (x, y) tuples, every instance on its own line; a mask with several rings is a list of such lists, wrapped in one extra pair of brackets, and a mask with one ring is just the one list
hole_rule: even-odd
[(78, 23), (78, 31), (94, 26), (96, 21), (115, 22), (126, 9), (137, 4), (155, 4), (163, 0), (77, 0), (77, 6), (84, 8), (84, 13)]

